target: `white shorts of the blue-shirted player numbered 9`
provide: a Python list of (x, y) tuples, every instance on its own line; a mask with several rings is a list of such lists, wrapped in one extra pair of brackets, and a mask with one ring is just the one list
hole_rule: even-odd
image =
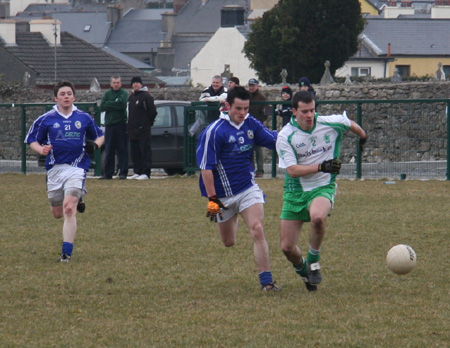
[(238, 193), (235, 196), (222, 197), (220, 201), (227, 210), (222, 209), (222, 217), (217, 217), (217, 222), (225, 222), (230, 220), (236, 214), (240, 214), (245, 209), (257, 203), (265, 203), (264, 192), (257, 184), (248, 188), (247, 190)]

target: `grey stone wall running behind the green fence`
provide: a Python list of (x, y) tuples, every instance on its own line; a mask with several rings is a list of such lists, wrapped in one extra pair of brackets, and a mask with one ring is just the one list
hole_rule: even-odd
[[(297, 86), (290, 86), (294, 91)], [(282, 86), (262, 87), (268, 100), (280, 100)], [(399, 84), (332, 84), (315, 86), (320, 101), (447, 99), (450, 82), (411, 82)], [(198, 101), (201, 89), (164, 88), (150, 91), (157, 100)], [(99, 103), (104, 91), (79, 90), (77, 102)], [(21, 156), (21, 109), (9, 104), (53, 103), (52, 91), (0, 86), (0, 160), (19, 160)], [(2, 105), (3, 104), (3, 105)], [(445, 160), (447, 119), (445, 103), (364, 103), (362, 125), (370, 138), (364, 152), (365, 162)], [(356, 120), (355, 104), (325, 104), (321, 114), (347, 111)], [(26, 130), (45, 110), (28, 108)], [(271, 125), (271, 121), (268, 121)], [(342, 146), (342, 158), (350, 161), (356, 154), (356, 138), (350, 135)], [(33, 156), (27, 148), (27, 155)], [(267, 155), (270, 162), (270, 155)]]

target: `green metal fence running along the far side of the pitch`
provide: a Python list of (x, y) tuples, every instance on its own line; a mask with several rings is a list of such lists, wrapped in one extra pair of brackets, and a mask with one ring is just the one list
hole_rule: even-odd
[[(254, 103), (266, 106), (270, 115), (266, 124), (270, 128), (281, 128), (281, 118), (275, 110), (286, 102)], [(318, 104), (322, 115), (346, 111), (369, 134), (363, 153), (359, 151), (356, 136), (349, 133), (344, 137), (340, 177), (450, 180), (450, 99), (319, 101)], [(96, 103), (76, 105), (99, 123)], [(23, 141), (32, 122), (51, 107), (53, 104), (0, 104), (0, 173), (45, 171), (38, 166), (38, 156)], [(207, 115), (217, 109), (218, 105), (199, 102), (185, 108), (184, 169), (187, 172), (199, 170), (195, 157), (197, 138), (208, 122), (207, 119), (200, 122), (191, 134), (191, 127), (198, 119), (197, 111)], [(275, 151), (268, 152), (265, 166), (272, 177), (283, 174), (277, 167)], [(100, 175), (99, 151), (91, 171)]]

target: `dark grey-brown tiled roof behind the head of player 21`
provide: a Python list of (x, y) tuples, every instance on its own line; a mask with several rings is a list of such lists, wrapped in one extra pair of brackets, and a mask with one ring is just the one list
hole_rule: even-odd
[[(51, 86), (55, 82), (55, 47), (50, 46), (40, 32), (16, 34), (17, 46), (6, 51), (35, 70), (37, 86)], [(90, 45), (78, 37), (61, 32), (61, 45), (56, 48), (57, 80), (67, 79), (77, 86), (90, 86), (97, 78), (102, 86), (108, 86), (113, 75), (120, 75), (125, 83), (133, 76), (141, 76), (144, 84), (164, 85), (164, 82), (132, 67), (118, 58)]]

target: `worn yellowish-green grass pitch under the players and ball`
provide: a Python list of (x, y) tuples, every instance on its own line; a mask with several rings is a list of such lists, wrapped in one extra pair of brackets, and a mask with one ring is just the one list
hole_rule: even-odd
[[(45, 177), (0, 175), (0, 347), (449, 346), (449, 182), (340, 180), (316, 293), (279, 248), (283, 181), (258, 183), (280, 293), (259, 290), (243, 223), (221, 245), (196, 177), (89, 179), (62, 264)], [(400, 243), (418, 257), (405, 276), (385, 264)]]

